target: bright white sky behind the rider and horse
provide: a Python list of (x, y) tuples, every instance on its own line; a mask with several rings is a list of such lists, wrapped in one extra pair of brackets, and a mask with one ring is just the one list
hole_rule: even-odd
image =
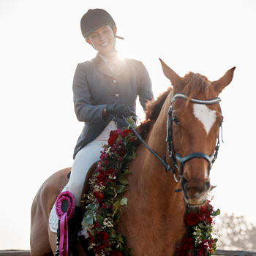
[(1, 0), (0, 249), (29, 249), (37, 190), (72, 165), (83, 127), (73, 110), (72, 78), (79, 62), (96, 55), (80, 34), (80, 18), (91, 8), (116, 20), (125, 38), (118, 51), (143, 61), (155, 97), (170, 84), (159, 57), (181, 76), (200, 72), (209, 80), (237, 67), (221, 94), (225, 143), (211, 182), (216, 208), (256, 225), (256, 1)]

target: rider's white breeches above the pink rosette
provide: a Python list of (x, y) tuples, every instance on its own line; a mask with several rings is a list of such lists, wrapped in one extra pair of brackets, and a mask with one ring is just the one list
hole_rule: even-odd
[(91, 165), (99, 160), (102, 145), (108, 143), (109, 133), (113, 129), (116, 129), (116, 123), (111, 121), (95, 140), (81, 148), (75, 156), (71, 176), (69, 178), (69, 191), (75, 197), (76, 206), (81, 205), (83, 184), (86, 180), (86, 174)]

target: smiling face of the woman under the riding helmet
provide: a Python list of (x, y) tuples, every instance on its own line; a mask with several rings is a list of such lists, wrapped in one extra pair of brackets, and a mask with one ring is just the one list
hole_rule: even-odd
[(116, 45), (116, 27), (112, 30), (111, 27), (103, 26), (100, 29), (93, 31), (89, 38), (86, 38), (86, 42), (93, 46), (95, 50), (98, 50), (102, 55), (108, 54), (115, 50)]

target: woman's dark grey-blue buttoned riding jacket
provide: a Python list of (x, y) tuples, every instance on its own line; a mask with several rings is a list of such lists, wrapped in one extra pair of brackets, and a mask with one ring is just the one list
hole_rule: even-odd
[(116, 104), (129, 105), (135, 112), (138, 96), (144, 110), (146, 102), (153, 98), (151, 80), (141, 61), (122, 60), (113, 75), (99, 54), (91, 61), (78, 64), (73, 93), (75, 114), (79, 121), (85, 123), (75, 146), (74, 158), (81, 148), (97, 138), (113, 118), (118, 128), (127, 126), (117, 116), (102, 117), (108, 103), (116, 101)]

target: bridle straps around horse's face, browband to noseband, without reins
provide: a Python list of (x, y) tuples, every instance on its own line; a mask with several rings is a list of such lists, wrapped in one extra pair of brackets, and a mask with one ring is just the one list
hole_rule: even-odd
[[(219, 151), (219, 132), (218, 132), (218, 139), (217, 139), (217, 145), (215, 147), (215, 151), (211, 155), (207, 155), (205, 153), (201, 152), (195, 152), (192, 154), (188, 154), (185, 157), (181, 157), (179, 154), (176, 153), (175, 148), (173, 146), (173, 102), (176, 101), (176, 99), (184, 99), (187, 100), (188, 97), (184, 94), (174, 94), (173, 98), (171, 100), (170, 108), (167, 113), (167, 149), (168, 149), (168, 154), (170, 156), (171, 162), (173, 167), (177, 170), (178, 172), (178, 177), (181, 178), (184, 173), (184, 163), (189, 161), (190, 159), (193, 158), (204, 158), (208, 162), (208, 173), (210, 173), (211, 167), (214, 164), (215, 160), (217, 159), (218, 156), (218, 151)], [(202, 104), (202, 105), (213, 105), (216, 103), (219, 103), (221, 99), (219, 97), (214, 98), (214, 99), (189, 99), (189, 102), (195, 103), (195, 104)], [(219, 126), (221, 127), (221, 125)], [(177, 161), (179, 162), (180, 165), (180, 170), (177, 165)], [(178, 179), (174, 175), (174, 179), (178, 182)]]

